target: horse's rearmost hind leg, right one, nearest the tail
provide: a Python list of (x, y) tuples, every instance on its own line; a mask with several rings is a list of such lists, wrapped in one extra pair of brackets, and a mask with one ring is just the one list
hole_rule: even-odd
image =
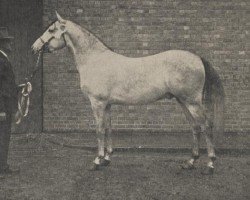
[(212, 123), (209, 115), (205, 113), (201, 104), (189, 104), (187, 109), (190, 111), (195, 123), (201, 128), (201, 133), (205, 135), (207, 143), (207, 151), (209, 162), (207, 164), (207, 172), (205, 174), (212, 174), (214, 171), (214, 161), (216, 159), (215, 150), (212, 140)]

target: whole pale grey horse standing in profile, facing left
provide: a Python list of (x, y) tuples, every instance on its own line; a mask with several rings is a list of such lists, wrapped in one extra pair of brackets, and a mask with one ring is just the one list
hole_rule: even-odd
[(207, 169), (212, 173), (216, 158), (212, 133), (223, 132), (224, 90), (211, 65), (182, 50), (126, 57), (110, 50), (87, 29), (56, 14), (57, 21), (35, 41), (32, 49), (38, 52), (46, 46), (53, 52), (68, 47), (74, 55), (81, 90), (88, 96), (96, 120), (98, 155), (93, 169), (110, 163), (111, 105), (147, 104), (174, 97), (193, 132), (192, 157), (183, 168), (194, 167), (203, 133), (209, 157)]

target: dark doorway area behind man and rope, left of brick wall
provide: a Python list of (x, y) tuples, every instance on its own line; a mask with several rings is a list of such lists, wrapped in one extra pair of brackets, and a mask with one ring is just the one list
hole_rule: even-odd
[[(16, 82), (22, 83), (34, 69), (36, 57), (30, 46), (42, 32), (42, 0), (1, 0), (0, 26), (8, 27), (9, 33), (15, 37), (11, 63), (16, 75)], [(42, 70), (33, 79), (30, 113), (23, 123), (15, 128), (15, 132), (42, 131)]]

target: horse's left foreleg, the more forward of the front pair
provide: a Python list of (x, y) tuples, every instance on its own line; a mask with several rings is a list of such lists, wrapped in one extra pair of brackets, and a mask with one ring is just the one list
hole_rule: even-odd
[(96, 120), (96, 134), (98, 142), (98, 155), (94, 160), (94, 166), (91, 168), (96, 170), (104, 158), (104, 139), (105, 139), (105, 108), (106, 103), (90, 98), (91, 106), (93, 109), (94, 117)]

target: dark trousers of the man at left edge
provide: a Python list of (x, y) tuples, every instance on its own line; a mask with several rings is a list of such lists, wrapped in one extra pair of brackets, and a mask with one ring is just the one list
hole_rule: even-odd
[(11, 134), (11, 114), (7, 113), (6, 120), (0, 121), (0, 171), (8, 168), (7, 159)]

